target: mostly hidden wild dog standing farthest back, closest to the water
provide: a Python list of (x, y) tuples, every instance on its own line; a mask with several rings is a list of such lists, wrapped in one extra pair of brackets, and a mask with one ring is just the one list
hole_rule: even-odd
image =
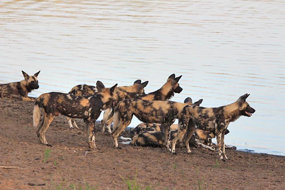
[[(144, 87), (148, 84), (148, 81), (141, 83), (141, 80), (136, 80), (133, 85), (131, 86), (120, 86), (115, 89), (115, 91), (126, 91), (126, 92), (134, 92), (134, 93), (139, 93), (143, 94), (144, 93)], [(87, 84), (82, 84), (82, 85), (77, 85), (73, 87), (70, 91), (69, 94), (73, 94), (76, 96), (87, 96), (87, 95), (95, 95), (101, 91), (104, 91), (105, 85), (101, 81), (97, 81), (96, 86), (91, 86)], [(108, 108), (107, 110), (109, 111), (111, 108)], [(104, 113), (106, 110), (104, 110)], [(109, 111), (110, 112), (110, 111)], [(75, 118), (69, 118), (67, 117), (68, 120), (68, 125), (70, 129), (73, 129), (74, 127), (76, 129), (79, 129), (76, 122)], [(73, 127), (74, 126), (74, 127)], [(105, 131), (105, 127), (103, 126), (102, 131)], [(111, 131), (111, 129), (110, 129)], [(111, 133), (111, 132), (110, 132)]]

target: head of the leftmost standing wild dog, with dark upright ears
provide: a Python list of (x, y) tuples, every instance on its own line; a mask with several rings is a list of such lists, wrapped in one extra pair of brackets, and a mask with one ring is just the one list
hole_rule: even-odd
[(114, 91), (117, 88), (117, 85), (118, 84), (115, 84), (111, 88), (105, 88), (102, 92), (97, 94), (101, 97), (101, 100), (104, 104), (102, 107), (102, 110), (105, 110), (107, 108), (111, 108), (114, 105), (116, 105), (116, 99), (115, 99)]

